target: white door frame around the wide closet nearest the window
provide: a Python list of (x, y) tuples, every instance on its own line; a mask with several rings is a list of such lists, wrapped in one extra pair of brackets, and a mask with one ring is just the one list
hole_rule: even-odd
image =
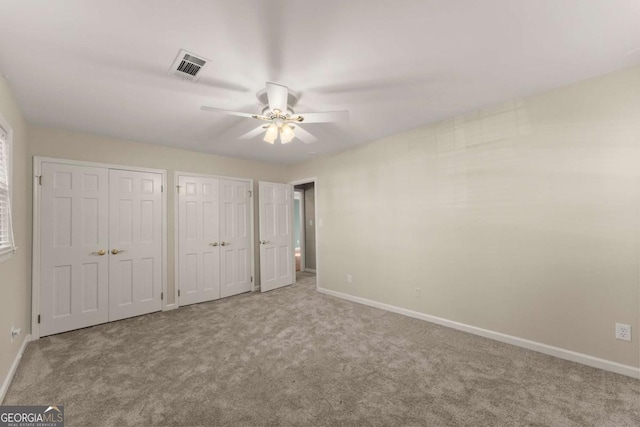
[[(162, 292), (167, 295), (167, 171), (164, 169), (141, 168), (136, 166), (115, 165), (110, 163), (85, 162), (82, 160), (62, 159), (56, 157), (33, 156), (33, 236), (31, 249), (31, 336), (40, 338), (38, 314), (40, 312), (40, 213), (42, 189), (39, 177), (42, 174), (42, 163), (58, 163), (73, 166), (87, 166), (106, 169), (122, 169), (135, 172), (151, 172), (162, 176)], [(168, 295), (167, 295), (168, 296)], [(162, 299), (162, 311), (170, 310), (173, 304), (167, 304), (169, 298)]]

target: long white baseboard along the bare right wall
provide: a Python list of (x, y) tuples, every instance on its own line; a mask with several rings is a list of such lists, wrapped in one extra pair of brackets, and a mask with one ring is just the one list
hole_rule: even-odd
[(331, 295), (348, 301), (356, 302), (359, 304), (376, 307), (382, 310), (391, 311), (393, 313), (402, 314), (404, 316), (413, 317), (415, 319), (425, 320), (427, 322), (435, 323), (448, 328), (457, 329), (459, 331), (468, 332), (473, 335), (479, 335), (481, 337), (489, 338), (492, 340), (504, 342), (507, 344), (515, 345), (517, 347), (526, 348), (529, 350), (537, 351), (539, 353), (548, 354), (549, 356), (558, 357), (560, 359), (569, 360), (571, 362), (581, 363), (583, 365), (591, 366), (594, 368), (604, 369), (605, 371), (615, 372), (617, 374), (626, 375), (628, 377), (640, 379), (640, 368), (633, 366), (623, 365), (621, 363), (612, 362), (606, 359), (600, 359), (598, 357), (589, 356), (588, 354), (578, 353), (571, 350), (566, 350), (560, 347), (554, 347), (547, 344), (542, 344), (536, 341), (530, 341), (524, 338), (514, 337), (512, 335), (503, 334), (500, 332), (491, 331), (488, 329), (478, 328), (476, 326), (467, 325), (464, 323), (454, 322), (452, 320), (443, 319), (441, 317), (430, 316), (428, 314), (420, 313), (406, 308), (397, 307), (390, 304), (381, 303), (378, 301), (369, 300), (366, 298), (356, 297), (342, 292), (332, 291), (330, 289), (318, 288), (318, 292), (326, 295)]

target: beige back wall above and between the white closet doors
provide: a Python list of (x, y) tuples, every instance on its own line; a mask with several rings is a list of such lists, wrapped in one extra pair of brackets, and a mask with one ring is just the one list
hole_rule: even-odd
[[(173, 182), (174, 171), (254, 179), (253, 194), (256, 195), (254, 197), (256, 208), (258, 180), (284, 182), (283, 168), (268, 163), (232, 159), (87, 133), (30, 127), (29, 143), (31, 154), (34, 156), (166, 169), (167, 184), (170, 189), (175, 189), (176, 185)], [(174, 191), (167, 192), (169, 303), (173, 303), (174, 295), (174, 194)], [(254, 215), (256, 236), (258, 235), (257, 218), (256, 211)], [(254, 254), (256, 274), (259, 275), (257, 246), (254, 248)]]

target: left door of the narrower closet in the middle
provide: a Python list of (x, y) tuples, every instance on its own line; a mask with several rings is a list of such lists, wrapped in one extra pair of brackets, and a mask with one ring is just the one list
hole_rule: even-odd
[(220, 208), (217, 179), (179, 176), (180, 305), (220, 298)]

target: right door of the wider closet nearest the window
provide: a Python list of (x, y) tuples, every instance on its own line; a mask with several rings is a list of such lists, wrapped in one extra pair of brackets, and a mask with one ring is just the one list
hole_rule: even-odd
[(162, 308), (162, 176), (109, 170), (109, 320)]

